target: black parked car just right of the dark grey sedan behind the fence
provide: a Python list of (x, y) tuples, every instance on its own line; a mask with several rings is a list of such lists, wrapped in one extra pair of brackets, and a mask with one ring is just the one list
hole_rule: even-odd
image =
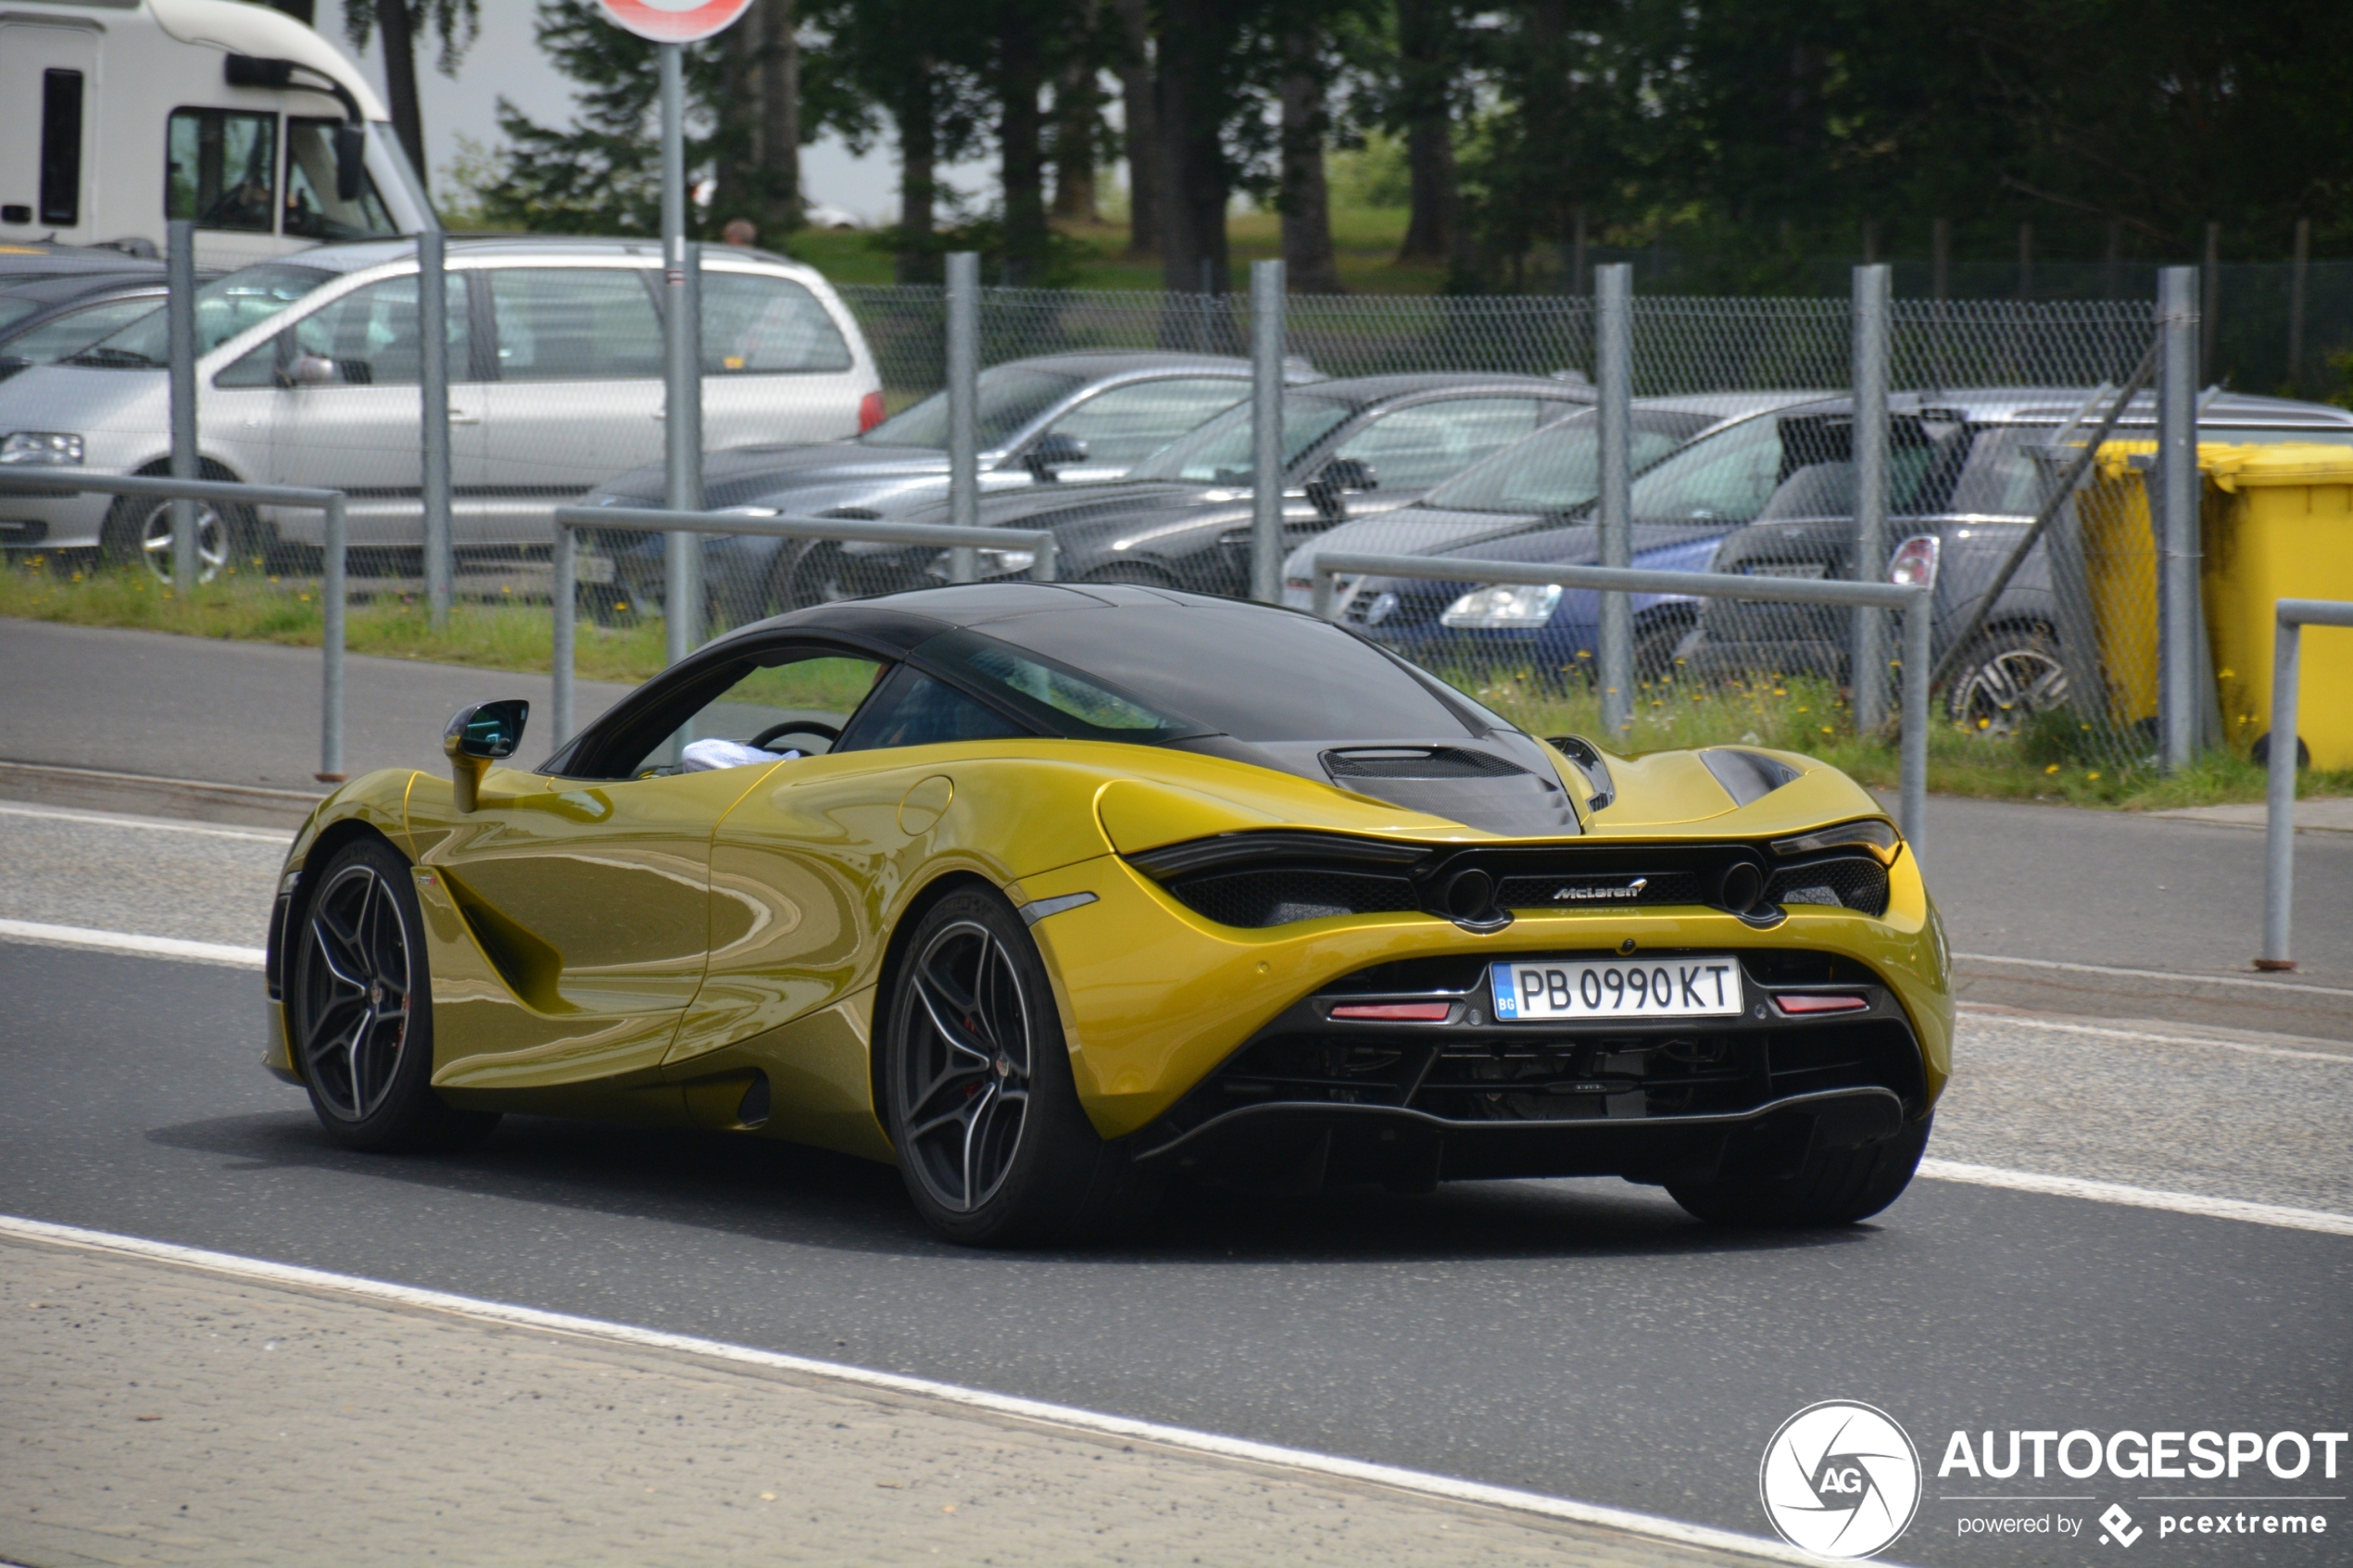
[[(1282, 548), (1351, 517), (1393, 512), (1591, 402), (1593, 388), (1579, 381), (1459, 371), (1358, 376), (1287, 393)], [(1252, 442), (1245, 404), (1136, 465), (1125, 484), (1061, 505), (1052, 498), (991, 505), (984, 522), (1054, 529), (1064, 581), (1240, 595), (1249, 590)], [(847, 562), (882, 555), (882, 548), (842, 550)], [(934, 559), (934, 574), (944, 559)], [(1028, 571), (1028, 555), (988, 550), (981, 569), (1014, 576)], [(896, 583), (854, 564), (845, 588), (882, 592)]]

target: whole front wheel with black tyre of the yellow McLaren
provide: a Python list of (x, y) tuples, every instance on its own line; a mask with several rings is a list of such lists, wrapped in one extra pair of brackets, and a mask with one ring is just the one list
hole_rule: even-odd
[(496, 1112), (433, 1091), (433, 985), (409, 863), (355, 839), (318, 872), (287, 985), (287, 1034), (311, 1110), (346, 1150), (480, 1143)]

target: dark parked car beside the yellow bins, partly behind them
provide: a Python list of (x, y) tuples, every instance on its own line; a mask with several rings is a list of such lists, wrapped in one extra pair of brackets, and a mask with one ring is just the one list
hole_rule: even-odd
[[(2049, 480), (2035, 449), (2075, 414), (2082, 388), (1920, 393), (1889, 414), (1889, 520), (1885, 557), (1906, 555), (1934, 576), (1934, 649), (1967, 630), (2000, 564), (2040, 510)], [(1718, 571), (1746, 576), (1854, 576), (1854, 409), (1828, 400), (1781, 416), (1779, 484), (1758, 515), (1718, 548)], [(2155, 397), (2125, 409), (2118, 440), (2151, 440)], [(2280, 397), (2221, 393), (2198, 416), (2200, 442), (2353, 444), (2353, 411)], [(1694, 675), (1849, 677), (1852, 611), (1713, 599), (1680, 658)], [(2064, 618), (2038, 543), (1955, 663), (1946, 710), (1977, 729), (2007, 731), (2066, 701)]]

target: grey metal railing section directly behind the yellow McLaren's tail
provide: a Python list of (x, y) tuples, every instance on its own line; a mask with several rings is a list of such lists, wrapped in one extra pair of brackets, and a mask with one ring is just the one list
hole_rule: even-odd
[[(1315, 555), (1315, 614), (1332, 621), (1341, 574), (1421, 578), (1431, 583), (1527, 583), (1537, 588), (1598, 588), (1605, 597), (1626, 592), (1666, 592), (1718, 599), (1753, 599), (1765, 604), (1842, 604), (1894, 609), (1904, 614), (1904, 729), (1899, 741), (1901, 785), (1897, 825), (1920, 851), (1927, 816), (1927, 665), (1929, 588), (1894, 583), (1835, 583), (1781, 576), (1732, 576), (1720, 571), (1638, 571), (1624, 567), (1546, 567), (1529, 562), (1482, 562), (1449, 555), (1362, 555), (1322, 550)], [(1607, 696), (1607, 693), (1605, 693)], [(1609, 712), (1605, 708), (1605, 712)]]

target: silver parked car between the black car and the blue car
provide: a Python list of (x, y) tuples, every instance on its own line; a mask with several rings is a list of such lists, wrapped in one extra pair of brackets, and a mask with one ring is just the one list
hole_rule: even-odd
[[(1715, 393), (1704, 397), (1647, 397), (1633, 407), (1631, 468), (1647, 470), (1666, 454), (1708, 430), (1821, 393)], [(1438, 555), (1487, 538), (1527, 534), (1581, 517), (1600, 494), (1600, 414), (1588, 411), (1527, 437), (1466, 468), (1412, 505), (1377, 517), (1344, 522), (1292, 550), (1282, 562), (1282, 602), (1308, 609), (1315, 595), (1313, 559), (1322, 550), (1379, 555)], [(1341, 578), (1346, 611), (1360, 590)]]

